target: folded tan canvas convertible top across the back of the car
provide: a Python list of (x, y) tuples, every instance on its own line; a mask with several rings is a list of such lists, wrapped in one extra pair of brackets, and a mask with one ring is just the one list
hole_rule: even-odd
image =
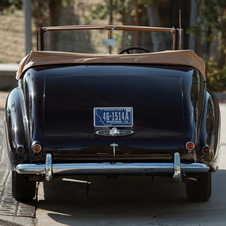
[(56, 51), (32, 51), (19, 64), (16, 78), (30, 67), (60, 64), (159, 64), (185, 65), (199, 70), (205, 78), (205, 63), (193, 50), (172, 50), (143, 54), (83, 54)]

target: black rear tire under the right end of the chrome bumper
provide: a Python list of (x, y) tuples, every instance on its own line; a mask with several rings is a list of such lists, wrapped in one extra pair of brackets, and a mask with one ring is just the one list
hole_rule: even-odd
[(211, 197), (212, 173), (189, 173), (188, 177), (197, 178), (186, 184), (186, 194), (192, 202), (207, 202)]

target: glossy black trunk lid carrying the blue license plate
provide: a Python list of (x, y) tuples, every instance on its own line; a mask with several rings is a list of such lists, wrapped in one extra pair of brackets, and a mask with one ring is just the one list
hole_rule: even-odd
[[(180, 72), (128, 65), (55, 70), (57, 76), (45, 78), (44, 153), (101, 161), (184, 154)], [(130, 111), (132, 124), (95, 125), (95, 109), (107, 109), (109, 114)], [(104, 135), (103, 130), (112, 128), (131, 134)]]

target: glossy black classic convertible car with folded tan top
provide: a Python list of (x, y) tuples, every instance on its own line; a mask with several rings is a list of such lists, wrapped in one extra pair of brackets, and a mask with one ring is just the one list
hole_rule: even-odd
[[(168, 50), (153, 52), (151, 32)], [(159, 176), (185, 182), (191, 201), (211, 197), (219, 106), (180, 29), (42, 27), (37, 37), (5, 107), (16, 200), (70, 175)]]

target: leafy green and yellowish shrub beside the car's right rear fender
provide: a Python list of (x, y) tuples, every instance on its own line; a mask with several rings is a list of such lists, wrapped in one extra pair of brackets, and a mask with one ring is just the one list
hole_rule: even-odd
[(207, 88), (214, 92), (226, 91), (226, 66), (217, 69), (217, 62), (206, 61)]

